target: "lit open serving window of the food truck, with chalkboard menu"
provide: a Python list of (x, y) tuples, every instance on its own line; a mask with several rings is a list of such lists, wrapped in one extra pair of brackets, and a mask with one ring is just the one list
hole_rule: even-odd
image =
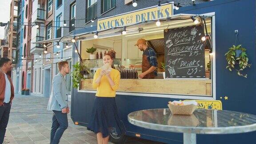
[[(81, 81), (80, 90), (93, 90), (93, 75), (103, 65), (100, 54), (104, 56), (105, 52), (115, 53), (114, 66), (120, 72), (123, 69), (130, 70), (129, 64), (141, 64), (143, 52), (134, 44), (138, 39), (144, 38), (148, 47), (156, 52), (158, 76), (153, 80), (123, 78), (120, 80), (118, 92), (130, 95), (145, 93), (156, 96), (213, 96), (212, 46), (210, 41), (202, 41), (206, 30), (211, 39), (212, 18), (208, 17), (205, 22), (201, 25), (194, 24), (191, 19), (184, 19), (164, 21), (159, 27), (156, 27), (155, 23), (140, 24), (128, 27), (126, 35), (113, 36), (113, 33), (118, 32), (106, 31), (104, 37), (102, 35), (98, 39), (82, 40), (81, 64), (89, 68), (90, 74)], [(206, 38), (208, 40), (208, 37)], [(91, 47), (96, 48), (93, 53), (95, 59), (90, 59), (90, 54), (86, 52), (87, 48)], [(140, 75), (141, 68), (136, 70)]]

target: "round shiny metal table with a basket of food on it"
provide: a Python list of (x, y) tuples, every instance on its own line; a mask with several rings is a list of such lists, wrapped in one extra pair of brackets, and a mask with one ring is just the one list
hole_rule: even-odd
[(170, 109), (149, 109), (128, 115), (131, 124), (183, 133), (184, 144), (196, 144), (196, 134), (232, 134), (256, 131), (256, 116), (226, 110), (196, 109), (192, 115), (172, 115)]

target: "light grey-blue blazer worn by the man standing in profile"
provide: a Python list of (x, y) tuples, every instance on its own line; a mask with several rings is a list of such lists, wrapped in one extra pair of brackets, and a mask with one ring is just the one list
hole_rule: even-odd
[(52, 79), (52, 92), (47, 110), (61, 111), (65, 107), (68, 107), (68, 87), (64, 76), (59, 72)]

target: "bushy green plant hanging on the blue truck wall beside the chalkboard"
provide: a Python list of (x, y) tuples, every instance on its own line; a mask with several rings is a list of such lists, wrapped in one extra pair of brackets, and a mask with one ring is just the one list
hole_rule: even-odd
[[(245, 51), (246, 49), (243, 48), (242, 45), (233, 45), (233, 47), (229, 48), (225, 56), (228, 62), (226, 69), (228, 68), (229, 71), (235, 69), (239, 76), (244, 76), (245, 78), (247, 78), (247, 74), (241, 74), (241, 71), (243, 71), (247, 67), (250, 68), (252, 64), (248, 64), (249, 59)], [(236, 66), (236, 64), (238, 64), (239, 66)]]

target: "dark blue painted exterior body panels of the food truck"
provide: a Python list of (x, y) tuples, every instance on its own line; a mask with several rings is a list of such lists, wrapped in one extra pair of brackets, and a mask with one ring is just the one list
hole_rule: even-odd
[[(197, 4), (174, 10), (175, 14), (203, 14), (215, 12), (216, 16), (216, 100), (221, 100), (224, 110), (246, 112), (256, 115), (253, 107), (256, 101), (256, 2), (255, 0), (214, 0), (211, 2)], [(251, 68), (244, 72), (248, 78), (238, 76), (236, 72), (226, 69), (224, 54), (235, 44), (235, 30), (239, 31), (239, 41), (247, 49)], [(73, 54), (74, 61), (78, 60)], [(86, 126), (90, 117), (94, 93), (72, 91), (72, 120), (81, 122)], [(228, 96), (228, 100), (220, 99), (220, 96)], [(168, 98), (155, 98), (143, 96), (116, 96), (116, 103), (128, 135), (132, 132), (142, 133), (142, 138), (158, 140), (166, 143), (181, 144), (182, 134), (172, 132), (159, 132), (146, 130), (129, 124), (127, 115), (130, 112), (148, 109), (163, 108)], [(130, 131), (130, 132), (128, 132)], [(148, 137), (147, 135), (165, 137)], [(197, 135), (197, 144), (251, 144), (255, 140), (256, 132), (228, 135)]]

